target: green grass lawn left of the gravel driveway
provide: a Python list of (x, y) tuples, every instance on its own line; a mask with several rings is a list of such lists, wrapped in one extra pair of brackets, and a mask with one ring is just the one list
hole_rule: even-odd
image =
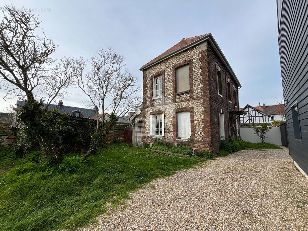
[(75, 155), (54, 167), (6, 161), (0, 167), (0, 230), (76, 229), (106, 212), (106, 202), (119, 205), (144, 183), (199, 161), (126, 144), (102, 148), (85, 162)]

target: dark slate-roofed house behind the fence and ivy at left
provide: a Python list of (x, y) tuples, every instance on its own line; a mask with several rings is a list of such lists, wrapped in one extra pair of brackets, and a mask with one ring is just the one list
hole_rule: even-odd
[[(17, 100), (16, 107), (13, 107), (14, 111), (19, 111), (20, 108), (25, 104), (25, 101)], [(43, 103), (46, 106), (46, 103)], [(88, 108), (82, 108), (82, 107), (71, 107), (63, 105), (62, 100), (59, 100), (58, 104), (49, 104), (48, 109), (52, 110), (57, 108), (59, 113), (68, 113), (70, 115), (73, 115), (75, 117), (83, 117), (90, 119), (92, 116), (96, 115), (95, 108), (94, 109), (88, 109)], [(17, 122), (17, 116), (13, 119), (13, 124), (16, 124)]]

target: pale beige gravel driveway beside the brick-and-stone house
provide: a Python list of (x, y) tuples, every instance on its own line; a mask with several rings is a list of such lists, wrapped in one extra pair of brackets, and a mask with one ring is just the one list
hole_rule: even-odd
[(290, 161), (288, 149), (219, 157), (152, 181), (79, 230), (308, 230), (308, 181)]

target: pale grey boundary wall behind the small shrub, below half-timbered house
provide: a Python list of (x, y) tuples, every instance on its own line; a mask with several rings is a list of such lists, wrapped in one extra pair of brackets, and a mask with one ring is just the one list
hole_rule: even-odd
[[(259, 136), (254, 134), (254, 131), (248, 127), (240, 128), (241, 139), (244, 141), (249, 141), (251, 143), (260, 143), (261, 140)], [(270, 131), (266, 133), (267, 138), (265, 139), (266, 143), (281, 145), (281, 133), (280, 128), (271, 128)]]

